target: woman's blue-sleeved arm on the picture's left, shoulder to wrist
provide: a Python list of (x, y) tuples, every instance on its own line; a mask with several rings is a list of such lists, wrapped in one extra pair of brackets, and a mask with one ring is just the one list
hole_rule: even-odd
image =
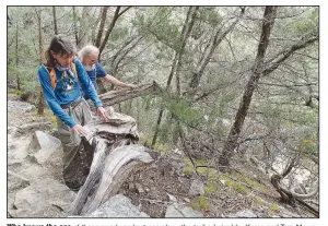
[(50, 75), (46, 68), (40, 67), (37, 72), (38, 80), (44, 91), (45, 98), (52, 110), (52, 112), (60, 118), (67, 126), (73, 128), (77, 122), (60, 107), (58, 104), (55, 92), (51, 85)]

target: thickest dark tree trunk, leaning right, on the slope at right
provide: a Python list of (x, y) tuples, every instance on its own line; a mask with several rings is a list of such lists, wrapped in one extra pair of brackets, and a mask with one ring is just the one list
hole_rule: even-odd
[(277, 7), (266, 7), (265, 9), (265, 14), (262, 20), (262, 31), (261, 31), (260, 41), (258, 45), (257, 56), (255, 59), (255, 66), (253, 68), (253, 74), (250, 75), (247, 82), (242, 102), (239, 104), (238, 111), (235, 116), (235, 121), (230, 130), (223, 151), (219, 156), (218, 165), (219, 168), (223, 170), (225, 170), (226, 167), (230, 166), (229, 162), (233, 155), (233, 151), (237, 146), (237, 140), (241, 134), (244, 120), (247, 116), (247, 111), (251, 102), (254, 90), (257, 86), (257, 83), (263, 70), (263, 59), (269, 44), (271, 29), (274, 23), (276, 12), (277, 12)]

